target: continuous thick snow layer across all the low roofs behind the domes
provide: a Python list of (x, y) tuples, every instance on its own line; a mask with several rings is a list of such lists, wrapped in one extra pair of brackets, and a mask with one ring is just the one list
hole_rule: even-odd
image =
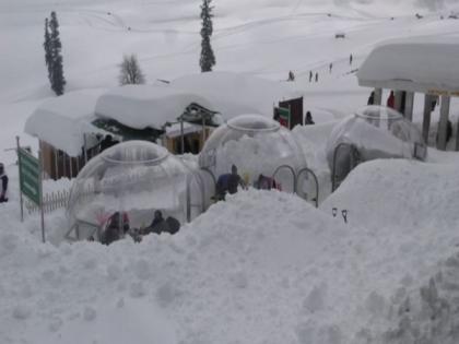
[(229, 72), (201, 73), (170, 84), (70, 92), (42, 104), (28, 118), (25, 132), (76, 156), (83, 132), (96, 131), (91, 121), (97, 117), (133, 129), (163, 129), (192, 103), (220, 112), (219, 120), (228, 120), (242, 114), (272, 117), (274, 103), (299, 95), (287, 83)]

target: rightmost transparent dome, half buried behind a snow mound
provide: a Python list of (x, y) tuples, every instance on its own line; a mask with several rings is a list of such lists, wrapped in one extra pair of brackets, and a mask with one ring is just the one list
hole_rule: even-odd
[(372, 105), (337, 124), (327, 142), (332, 189), (360, 163), (376, 158), (425, 161), (427, 150), (420, 130), (396, 110)]

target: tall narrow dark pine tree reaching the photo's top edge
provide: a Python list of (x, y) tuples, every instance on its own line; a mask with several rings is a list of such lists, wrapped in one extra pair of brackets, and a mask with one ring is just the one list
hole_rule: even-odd
[(202, 0), (201, 4), (201, 58), (199, 64), (201, 66), (201, 72), (212, 71), (212, 67), (215, 64), (215, 56), (212, 50), (210, 43), (210, 37), (212, 36), (213, 25), (212, 25), (212, 10), (213, 7), (210, 5), (212, 0)]

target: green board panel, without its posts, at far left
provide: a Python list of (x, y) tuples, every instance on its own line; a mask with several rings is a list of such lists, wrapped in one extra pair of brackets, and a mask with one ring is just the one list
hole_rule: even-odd
[(42, 204), (40, 169), (38, 159), (23, 149), (17, 150), (20, 188), (32, 202)]

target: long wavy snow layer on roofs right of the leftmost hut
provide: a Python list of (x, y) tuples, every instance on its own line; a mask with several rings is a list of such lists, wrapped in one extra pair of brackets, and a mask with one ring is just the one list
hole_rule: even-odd
[(96, 116), (143, 129), (161, 129), (191, 103), (217, 111), (224, 120), (243, 114), (271, 117), (274, 103), (301, 96), (286, 83), (239, 73), (211, 72), (179, 78), (164, 85), (128, 85), (110, 90), (96, 104)]

